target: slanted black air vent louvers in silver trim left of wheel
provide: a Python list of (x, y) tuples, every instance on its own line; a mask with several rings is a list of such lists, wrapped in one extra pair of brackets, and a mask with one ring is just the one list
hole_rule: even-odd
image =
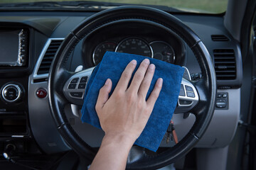
[(37, 74), (48, 74), (50, 70), (50, 64), (53, 62), (53, 58), (58, 48), (60, 47), (61, 42), (63, 40), (51, 40), (48, 49), (46, 50), (45, 55), (43, 56), (43, 60), (40, 64)]

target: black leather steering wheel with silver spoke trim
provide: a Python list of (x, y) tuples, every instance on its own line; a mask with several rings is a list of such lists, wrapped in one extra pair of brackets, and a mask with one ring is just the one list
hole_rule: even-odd
[[(82, 105), (84, 89), (68, 89), (68, 84), (75, 78), (90, 77), (93, 69), (75, 73), (68, 71), (65, 64), (75, 45), (82, 38), (95, 30), (122, 23), (144, 23), (169, 33), (176, 33), (191, 48), (201, 67), (202, 79), (198, 81), (182, 80), (183, 85), (186, 84), (193, 88), (195, 98), (179, 96), (179, 99), (191, 101), (191, 106), (182, 107), (178, 102), (176, 108), (183, 113), (189, 111), (196, 116), (196, 121), (188, 134), (177, 145), (159, 154), (149, 156), (145, 149), (140, 147), (135, 148), (135, 154), (129, 154), (127, 169), (159, 169), (185, 156), (201, 139), (212, 118), (216, 96), (215, 71), (208, 50), (191, 28), (171, 14), (144, 6), (121, 6), (96, 13), (80, 23), (65, 38), (50, 68), (48, 91), (51, 113), (60, 135), (68, 142), (68, 145), (75, 152), (92, 161), (97, 150), (87, 145), (73, 130), (68, 123), (64, 108), (70, 103)], [(70, 96), (73, 92), (80, 93), (80, 95)]]

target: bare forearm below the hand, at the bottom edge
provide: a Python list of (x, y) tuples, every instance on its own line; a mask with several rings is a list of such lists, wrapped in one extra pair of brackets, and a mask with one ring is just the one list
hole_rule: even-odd
[(90, 170), (125, 169), (129, 150), (134, 141), (127, 135), (105, 135)]

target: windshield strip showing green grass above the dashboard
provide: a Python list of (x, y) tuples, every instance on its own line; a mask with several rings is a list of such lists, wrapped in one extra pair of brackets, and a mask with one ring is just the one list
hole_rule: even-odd
[[(0, 4), (14, 4), (14, 3), (33, 3), (33, 2), (61, 2), (63, 0), (1, 0)], [(64, 0), (65, 1), (65, 0)], [(70, 0), (67, 0), (70, 1)], [(125, 4), (139, 4), (139, 5), (154, 5), (154, 6), (168, 6), (171, 8), (176, 8), (180, 11), (188, 11), (194, 13), (223, 13), (226, 11), (228, 0), (90, 0), (93, 2), (107, 2), (108, 5), (105, 6), (119, 6)], [(88, 1), (79, 1), (88, 2)], [(115, 4), (115, 5), (112, 5)], [(117, 5), (118, 3), (118, 5)], [(34, 4), (33, 4), (34, 5)], [(60, 5), (60, 4), (58, 4)], [(17, 6), (20, 7), (21, 6)], [(26, 6), (22, 6), (23, 8)], [(60, 7), (60, 6), (58, 6)], [(65, 6), (63, 6), (65, 8)], [(70, 8), (70, 6), (69, 6)]]

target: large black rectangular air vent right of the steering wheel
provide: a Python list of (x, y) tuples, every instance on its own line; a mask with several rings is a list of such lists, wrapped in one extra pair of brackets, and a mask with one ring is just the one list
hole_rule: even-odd
[(218, 80), (236, 78), (235, 52), (233, 49), (213, 50), (215, 73)]

